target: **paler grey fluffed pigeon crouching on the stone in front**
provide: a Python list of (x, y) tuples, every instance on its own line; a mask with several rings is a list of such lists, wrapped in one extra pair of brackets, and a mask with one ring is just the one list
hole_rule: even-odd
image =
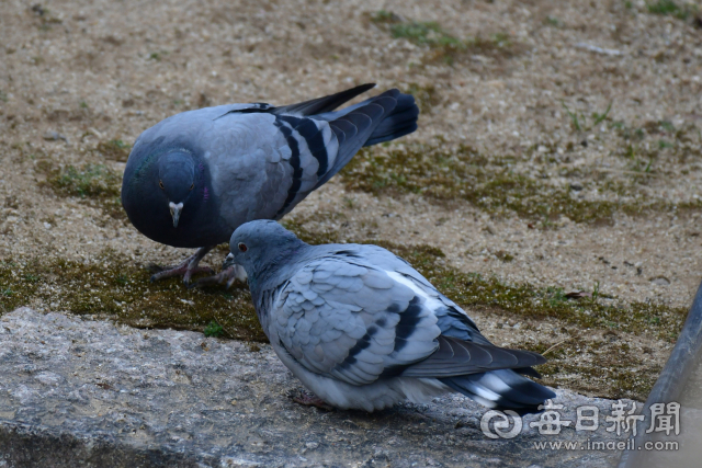
[(529, 412), (555, 398), (522, 376), (540, 377), (543, 356), (490, 343), (388, 250), (309, 246), (271, 220), (237, 228), (229, 249), (225, 265), (246, 270), (263, 331), (312, 404), (372, 412), (454, 391)]

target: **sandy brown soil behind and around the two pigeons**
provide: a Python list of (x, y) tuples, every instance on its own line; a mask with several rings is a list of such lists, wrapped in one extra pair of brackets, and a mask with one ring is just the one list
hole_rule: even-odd
[[(293, 220), (346, 240), (438, 247), (451, 267), (508, 284), (566, 292), (599, 285), (623, 304), (689, 306), (702, 266), (702, 36), (692, 7), (678, 18), (654, 14), (643, 1), (386, 1), (382, 9), (394, 14), (384, 22), (378, 5), (3, 2), (0, 259), (90, 263), (107, 248), (144, 264), (182, 259), (184, 252), (147, 240), (99, 201), (63, 196), (52, 170), (100, 163), (121, 174), (124, 155), (100, 145), (132, 145), (189, 109), (285, 104), (373, 81), (378, 90), (429, 95), (406, 145), (463, 144), (488, 158), (509, 156), (516, 172), (571, 187), (574, 199), (647, 208), (615, 210), (605, 222), (565, 214), (542, 227), (460, 197), (438, 203), (401, 191), (352, 191), (338, 176)], [(472, 45), (451, 55), (393, 28), (412, 21), (435, 22), (441, 32), (431, 34)], [(593, 125), (592, 114), (610, 103), (607, 118)], [(486, 310), (475, 310), (478, 323), (498, 343), (546, 346), (575, 334), (590, 347), (607, 342), (607, 330), (562, 332), (555, 319), (514, 329), (522, 319)], [(633, 372), (649, 373), (629, 393), (639, 398), (671, 346), (647, 331), (618, 338), (630, 346)], [(576, 346), (563, 359), (587, 359)], [(550, 383), (616, 396), (611, 386), (556, 374)]]

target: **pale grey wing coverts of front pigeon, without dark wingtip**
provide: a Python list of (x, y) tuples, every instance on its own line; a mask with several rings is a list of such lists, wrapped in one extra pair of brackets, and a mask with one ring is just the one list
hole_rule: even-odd
[(344, 252), (309, 263), (281, 289), (271, 339), (306, 369), (366, 385), (439, 347), (423, 299)]

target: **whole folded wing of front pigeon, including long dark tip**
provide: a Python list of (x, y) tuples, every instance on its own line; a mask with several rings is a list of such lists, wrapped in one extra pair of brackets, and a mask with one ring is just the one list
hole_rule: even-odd
[(308, 370), (352, 385), (400, 375), (450, 378), (545, 362), (536, 353), (495, 346), (477, 329), (479, 342), (442, 334), (437, 312), (445, 306), (434, 293), (428, 296), (353, 250), (337, 250), (281, 289), (272, 336)]

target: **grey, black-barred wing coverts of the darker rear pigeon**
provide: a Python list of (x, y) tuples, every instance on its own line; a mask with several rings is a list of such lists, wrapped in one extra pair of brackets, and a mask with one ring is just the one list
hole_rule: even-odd
[(283, 217), (318, 185), (339, 148), (328, 122), (264, 112), (220, 115), (201, 140), (234, 227)]

